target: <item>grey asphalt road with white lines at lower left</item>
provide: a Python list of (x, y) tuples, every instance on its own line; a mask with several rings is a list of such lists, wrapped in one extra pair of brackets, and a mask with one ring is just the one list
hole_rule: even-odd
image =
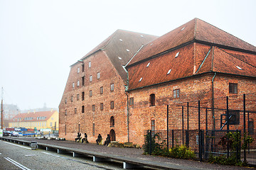
[(91, 158), (72, 157), (43, 149), (0, 140), (0, 169), (122, 169), (122, 164), (92, 162)]

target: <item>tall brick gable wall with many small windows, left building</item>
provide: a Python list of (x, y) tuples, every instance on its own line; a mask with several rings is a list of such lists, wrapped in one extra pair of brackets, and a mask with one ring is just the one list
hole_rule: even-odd
[[(91, 62), (90, 68), (89, 62)], [(82, 137), (86, 132), (89, 142), (95, 142), (99, 133), (105, 139), (112, 129), (115, 131), (117, 141), (126, 141), (127, 96), (124, 92), (124, 81), (117, 74), (105, 52), (98, 51), (87, 57), (83, 63), (85, 72), (82, 72), (82, 63), (75, 64), (70, 69), (59, 106), (60, 137), (74, 140), (80, 124)], [(80, 67), (80, 73), (77, 72), (78, 67)], [(100, 79), (97, 79), (98, 72), (100, 72)], [(92, 81), (89, 81), (90, 76), (92, 76)], [(81, 86), (82, 77), (85, 77), (85, 86)], [(80, 80), (80, 86), (77, 86), (78, 80)], [(72, 88), (73, 82), (75, 82), (74, 89)], [(110, 91), (110, 84), (114, 84), (114, 91)], [(103, 94), (100, 94), (102, 86)], [(92, 91), (92, 96), (89, 95), (89, 91)], [(82, 101), (82, 92), (85, 92), (84, 101)], [(79, 100), (77, 100), (77, 94), (79, 94)], [(73, 102), (71, 102), (71, 96), (73, 96)], [(67, 98), (67, 103), (65, 103), (65, 98)], [(113, 109), (110, 108), (111, 101), (114, 101)], [(100, 103), (103, 103), (103, 111), (100, 109)], [(95, 111), (92, 111), (92, 105), (95, 105)], [(82, 113), (82, 106), (85, 106), (85, 113)], [(75, 108), (77, 108), (77, 113), (75, 113)], [(65, 115), (65, 110), (67, 115)], [(110, 127), (111, 116), (114, 116), (114, 127)], [(92, 134), (93, 123), (95, 135)]]

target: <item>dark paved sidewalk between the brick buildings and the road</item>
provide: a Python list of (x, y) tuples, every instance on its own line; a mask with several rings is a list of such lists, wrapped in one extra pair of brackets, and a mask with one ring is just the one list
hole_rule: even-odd
[(73, 149), (80, 149), (90, 152), (97, 152), (102, 154), (112, 155), (113, 157), (126, 157), (127, 159), (137, 159), (149, 164), (168, 164), (174, 169), (225, 169), (225, 170), (238, 170), (238, 169), (252, 169), (239, 166), (223, 166), (218, 164), (209, 164), (207, 162), (197, 162), (185, 159), (171, 159), (166, 157), (156, 157), (144, 155), (142, 149), (135, 148), (118, 148), (106, 147), (104, 145), (96, 145), (93, 143), (82, 144), (73, 141), (58, 141), (58, 140), (38, 140), (34, 137), (11, 137), (18, 140), (37, 141), (48, 145), (58, 145), (60, 147), (69, 147)]

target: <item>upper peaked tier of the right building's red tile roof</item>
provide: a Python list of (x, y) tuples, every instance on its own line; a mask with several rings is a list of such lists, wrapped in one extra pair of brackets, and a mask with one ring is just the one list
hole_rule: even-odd
[(149, 42), (147, 45), (144, 45), (133, 60), (129, 62), (128, 67), (154, 55), (159, 55), (161, 52), (166, 52), (171, 49), (174, 50), (189, 42), (204, 42), (208, 45), (229, 47), (253, 53), (256, 52), (255, 46), (250, 45), (205, 21), (195, 18), (156, 40)]

